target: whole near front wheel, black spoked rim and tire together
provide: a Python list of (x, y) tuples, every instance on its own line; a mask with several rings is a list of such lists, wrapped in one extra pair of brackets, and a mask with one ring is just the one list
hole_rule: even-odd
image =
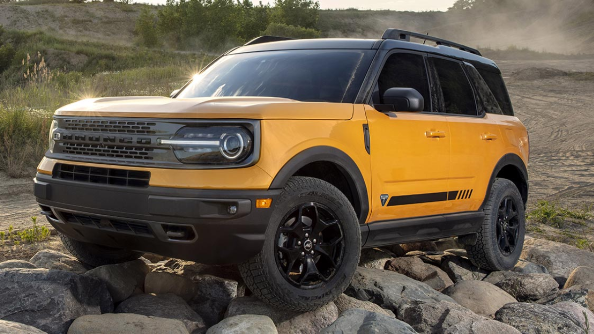
[(361, 253), (361, 231), (346, 196), (321, 179), (290, 178), (274, 208), (264, 247), (239, 265), (258, 298), (311, 311), (347, 288)]

